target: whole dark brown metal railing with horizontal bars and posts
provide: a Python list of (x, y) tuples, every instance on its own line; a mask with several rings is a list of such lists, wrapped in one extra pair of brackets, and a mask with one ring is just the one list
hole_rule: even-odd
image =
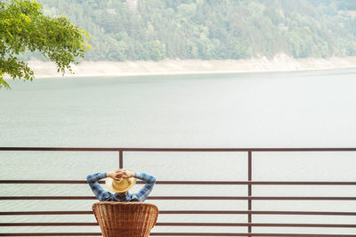
[[(253, 200), (356, 200), (356, 197), (300, 197), (300, 196), (254, 196), (254, 185), (356, 185), (356, 182), (263, 182), (253, 181), (253, 153), (261, 151), (356, 151), (356, 148), (46, 148), (46, 147), (0, 147), (0, 151), (113, 151), (117, 152), (119, 167), (124, 167), (125, 151), (212, 151), (212, 152), (247, 152), (246, 181), (157, 181), (157, 184), (199, 184), (199, 185), (247, 185), (247, 196), (150, 196), (149, 200), (247, 200), (244, 210), (160, 210), (159, 215), (207, 214), (207, 215), (247, 215), (246, 223), (157, 223), (157, 226), (245, 226), (247, 233), (151, 233), (152, 236), (356, 236), (356, 234), (306, 234), (306, 233), (253, 233), (253, 227), (320, 227), (320, 228), (355, 228), (355, 225), (344, 224), (286, 224), (286, 223), (255, 223), (255, 215), (292, 215), (292, 216), (356, 216), (356, 212), (336, 211), (265, 211), (254, 210)], [(355, 153), (356, 154), (356, 153)], [(102, 184), (103, 182), (101, 182)], [(0, 184), (86, 184), (84, 180), (0, 180)], [(138, 182), (142, 184), (142, 182)], [(95, 200), (94, 196), (0, 196), (1, 200)], [(352, 202), (354, 204), (354, 202)], [(19, 215), (91, 215), (91, 210), (84, 211), (0, 211), (0, 216)], [(0, 223), (1, 226), (91, 226), (97, 223)], [(90, 236), (101, 233), (1, 233), (0, 236)]]

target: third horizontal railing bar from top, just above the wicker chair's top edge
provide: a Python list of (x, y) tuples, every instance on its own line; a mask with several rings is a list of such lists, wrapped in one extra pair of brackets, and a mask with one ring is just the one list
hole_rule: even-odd
[[(152, 196), (149, 200), (356, 200), (356, 197)], [(0, 200), (96, 200), (94, 196), (2, 196)]]

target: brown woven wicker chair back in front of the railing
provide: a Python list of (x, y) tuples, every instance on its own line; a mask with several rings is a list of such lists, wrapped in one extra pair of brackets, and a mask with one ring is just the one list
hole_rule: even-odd
[(156, 225), (158, 208), (150, 203), (100, 201), (93, 213), (103, 237), (146, 237)]

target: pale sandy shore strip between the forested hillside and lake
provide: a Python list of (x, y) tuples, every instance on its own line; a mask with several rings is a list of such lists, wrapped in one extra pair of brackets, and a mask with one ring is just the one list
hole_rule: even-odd
[[(61, 77), (53, 62), (28, 62), (36, 78)], [(164, 61), (83, 61), (73, 66), (74, 74), (65, 77), (135, 76), (158, 74), (194, 74), (228, 72), (294, 71), (314, 69), (356, 68), (356, 57), (294, 59), (280, 53), (272, 59), (266, 57), (248, 60), (164, 60)]]

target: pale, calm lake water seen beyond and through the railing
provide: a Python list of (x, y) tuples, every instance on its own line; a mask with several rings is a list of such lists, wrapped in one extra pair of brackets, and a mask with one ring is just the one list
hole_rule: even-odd
[[(11, 81), (0, 91), (0, 146), (356, 147), (356, 69)], [(0, 179), (76, 179), (117, 168), (117, 152), (0, 151)], [(255, 181), (355, 181), (356, 152), (258, 152)], [(158, 180), (247, 180), (246, 152), (125, 152), (125, 167)], [(134, 190), (140, 188), (135, 187)], [(255, 196), (356, 196), (354, 186), (255, 186)], [(86, 184), (1, 184), (0, 196), (91, 195)], [(245, 186), (157, 185), (152, 195), (246, 196)], [(160, 209), (247, 208), (245, 200), (151, 200)], [(1, 200), (1, 211), (89, 210), (93, 200)], [(356, 211), (354, 201), (253, 201), (255, 210)], [(256, 222), (354, 224), (356, 217), (254, 216)], [(93, 222), (0, 216), (0, 222)], [(161, 215), (158, 222), (246, 222), (245, 215)], [(255, 233), (344, 233), (263, 228)], [(99, 227), (0, 227), (0, 233), (98, 232)], [(154, 232), (246, 232), (155, 227)]]

